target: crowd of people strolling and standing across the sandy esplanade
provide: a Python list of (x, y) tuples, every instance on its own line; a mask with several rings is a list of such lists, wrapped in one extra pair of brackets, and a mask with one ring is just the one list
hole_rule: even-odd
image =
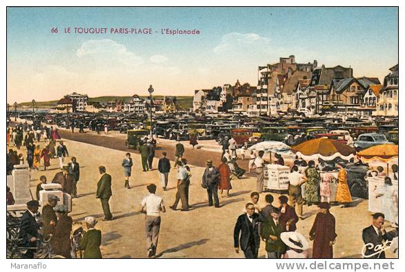
[[(73, 132), (74, 129), (72, 129)], [(52, 183), (59, 183), (64, 193), (69, 193), (72, 198), (77, 196), (77, 182), (80, 178), (80, 167), (75, 157), (70, 158), (70, 162), (66, 165), (65, 159), (69, 156), (68, 148), (61, 141), (57, 129), (52, 127), (41, 127), (37, 132), (29, 125), (19, 124), (14, 129), (9, 129), (10, 140), (9, 147), (14, 145), (17, 150), (21, 148), (19, 138), (23, 140), (23, 146), (26, 147), (27, 161), (30, 169), (39, 170), (41, 166), (41, 158), (43, 158), (43, 170), (47, 170), (50, 166), (50, 160), (58, 158), (59, 167), (62, 171), (58, 172), (52, 179)], [(21, 134), (21, 136), (19, 136)], [(9, 134), (8, 134), (9, 135)], [(39, 136), (38, 136), (39, 135)], [(43, 149), (39, 145), (41, 139), (46, 144)], [(55, 142), (54, 145), (51, 143)], [(195, 143), (197, 140), (193, 141)], [(59, 145), (55, 151), (55, 145)], [(37, 143), (35, 146), (34, 143)], [(197, 145), (197, 144), (196, 144)], [(240, 178), (245, 174), (244, 169), (237, 165), (237, 144), (235, 139), (225, 138), (222, 143), (221, 164), (215, 166), (213, 160), (206, 161), (206, 168), (201, 177), (201, 187), (206, 190), (208, 206), (220, 208), (219, 193), (221, 197), (230, 197), (230, 189), (232, 189), (231, 181), (233, 177)], [(34, 146), (32, 150), (31, 146)], [(194, 147), (194, 146), (193, 146)], [(153, 170), (153, 160), (155, 158), (156, 140), (152, 137), (143, 139), (139, 153), (141, 154), (141, 168), (143, 171)], [(157, 172), (159, 185), (166, 191), (168, 187), (168, 176), (172, 168), (176, 169), (177, 192), (175, 200), (170, 209), (177, 210), (181, 201), (180, 211), (189, 211), (192, 206), (189, 203), (189, 187), (192, 174), (188, 161), (184, 157), (186, 149), (184, 145), (177, 140), (175, 146), (174, 166), (170, 165), (167, 153), (163, 152), (157, 163)], [(32, 154), (32, 163), (28, 160), (28, 154)], [(21, 154), (10, 149), (8, 154), (8, 173), (12, 171), (14, 165), (21, 163)], [(275, 155), (275, 162), (279, 165), (284, 165), (284, 159), (280, 154)], [(264, 193), (264, 167), (269, 163), (264, 160), (264, 151), (249, 152), (249, 173), (255, 169), (257, 176), (256, 191), (251, 193), (250, 201), (245, 205), (245, 212), (237, 218), (234, 229), (234, 247), (235, 252), (239, 253), (239, 249), (244, 252), (246, 258), (257, 258), (260, 246), (260, 240), (266, 244), (266, 252), (268, 258), (308, 258), (309, 242), (306, 238), (297, 232), (297, 222), (305, 220), (303, 215), (304, 205), (319, 205), (319, 212), (313, 222), (313, 227), (308, 231), (310, 240), (313, 240), (312, 258), (333, 258), (333, 245), (336, 242), (336, 223), (335, 217), (330, 213), (331, 203), (331, 183), (335, 177), (331, 174), (320, 173), (321, 164), (316, 164), (310, 160), (306, 162), (297, 158), (292, 167), (290, 167), (288, 194), (281, 195), (278, 198), (278, 204), (273, 205), (274, 197), (271, 193), (265, 196), (266, 206), (258, 205), (261, 193)], [(10, 163), (9, 163), (10, 162)], [(134, 163), (130, 153), (126, 153), (121, 166), (123, 167), (125, 180), (124, 187), (130, 189), (130, 177)], [(341, 207), (350, 207), (352, 196), (348, 188), (348, 175), (344, 165), (336, 163), (333, 168), (338, 171), (337, 174), (337, 190), (335, 202), (339, 202)], [(394, 172), (394, 178), (397, 177), (397, 166)], [(10, 171), (9, 171), (10, 170)], [(114, 220), (110, 211), (110, 198), (112, 197), (112, 177), (107, 173), (106, 167), (99, 167), (100, 178), (97, 182), (96, 198), (101, 202), (103, 209), (103, 220)], [(369, 173), (371, 176), (382, 176), (382, 171), (375, 174), (373, 171)], [(377, 192), (377, 197), (384, 198), (387, 214), (375, 213), (371, 230), (375, 230), (377, 238), (373, 236), (375, 233), (370, 233), (369, 228), (363, 231), (363, 240), (367, 244), (372, 241), (376, 247), (382, 244), (384, 240), (392, 239), (397, 236), (395, 231), (386, 232), (384, 229), (384, 219), (390, 222), (397, 222), (397, 210), (389, 206), (393, 198), (397, 198), (397, 191), (393, 189), (391, 178), (386, 176), (385, 188)], [(72, 232), (72, 218), (68, 216), (68, 210), (65, 205), (56, 205), (59, 200), (57, 196), (48, 196), (48, 204), (43, 207), (42, 222), (39, 224), (33, 220), (39, 206), (41, 184), (47, 182), (45, 175), (40, 177), (41, 182), (37, 186), (37, 200), (32, 200), (27, 203), (28, 211), (24, 213), (21, 221), (21, 233), (26, 241), (26, 245), (33, 247), (37, 239), (39, 239), (39, 228), (42, 228), (43, 236), (46, 238), (52, 234), (52, 249), (56, 254), (70, 258), (70, 234)], [(390, 187), (391, 186), (391, 187)], [(148, 257), (153, 258), (157, 254), (157, 242), (159, 238), (159, 229), (161, 225), (161, 213), (166, 212), (166, 207), (163, 198), (156, 195), (157, 185), (150, 184), (147, 186), (149, 195), (141, 201), (140, 211), (146, 213), (146, 241)], [(225, 196), (224, 196), (225, 192)], [(12, 203), (12, 196), (9, 196), (8, 203)], [(12, 204), (10, 204), (12, 205)], [(393, 211), (394, 209), (394, 211)], [(396, 206), (397, 209), (397, 206)], [(388, 212), (392, 211), (392, 212)], [(35, 222), (34, 222), (35, 221)], [(81, 239), (80, 249), (84, 251), (84, 258), (101, 258), (99, 246), (101, 244), (101, 231), (95, 229), (97, 220), (92, 217), (85, 219), (88, 231), (84, 233)], [(381, 235), (379, 233), (382, 233)], [(373, 236), (373, 237), (371, 237)], [(69, 245), (69, 246), (68, 246)], [(33, 257), (32, 251), (26, 253), (26, 258)], [(368, 255), (371, 255), (369, 253)], [(384, 258), (383, 254), (373, 255), (373, 258)]]

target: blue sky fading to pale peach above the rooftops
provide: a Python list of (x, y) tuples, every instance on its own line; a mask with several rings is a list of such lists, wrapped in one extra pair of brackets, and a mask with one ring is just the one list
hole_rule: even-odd
[[(52, 32), (58, 28), (58, 32)], [(70, 28), (70, 33), (65, 29)], [(107, 33), (73, 33), (107, 28)], [(110, 33), (111, 28), (152, 34)], [(162, 29), (199, 34), (161, 34)], [(398, 63), (397, 8), (8, 8), (7, 102), (95, 96), (192, 96), (257, 85), (257, 66), (352, 67), (380, 81)]]

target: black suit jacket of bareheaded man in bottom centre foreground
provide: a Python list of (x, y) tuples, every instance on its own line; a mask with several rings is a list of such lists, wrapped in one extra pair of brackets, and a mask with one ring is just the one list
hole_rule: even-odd
[[(253, 213), (253, 223), (250, 223), (247, 213), (240, 215), (237, 218), (235, 229), (233, 230), (233, 246), (241, 247), (242, 251), (246, 251), (250, 244), (254, 244), (256, 249), (260, 247), (259, 237), (259, 215)], [(239, 238), (240, 235), (240, 238)]]

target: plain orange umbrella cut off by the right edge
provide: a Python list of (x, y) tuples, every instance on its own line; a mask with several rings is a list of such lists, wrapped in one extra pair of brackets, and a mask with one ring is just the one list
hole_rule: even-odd
[(393, 158), (398, 158), (398, 145), (388, 143), (384, 145), (375, 145), (357, 152), (357, 156), (366, 163), (370, 163), (373, 160), (382, 160), (387, 164), (388, 174), (388, 163), (393, 160)]

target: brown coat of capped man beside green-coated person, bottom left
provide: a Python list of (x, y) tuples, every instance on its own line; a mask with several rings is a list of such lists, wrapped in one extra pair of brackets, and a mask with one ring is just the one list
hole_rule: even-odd
[(72, 258), (70, 251), (70, 233), (72, 232), (73, 220), (70, 216), (61, 216), (55, 226), (50, 245), (53, 252), (57, 255), (62, 255), (65, 258)]

